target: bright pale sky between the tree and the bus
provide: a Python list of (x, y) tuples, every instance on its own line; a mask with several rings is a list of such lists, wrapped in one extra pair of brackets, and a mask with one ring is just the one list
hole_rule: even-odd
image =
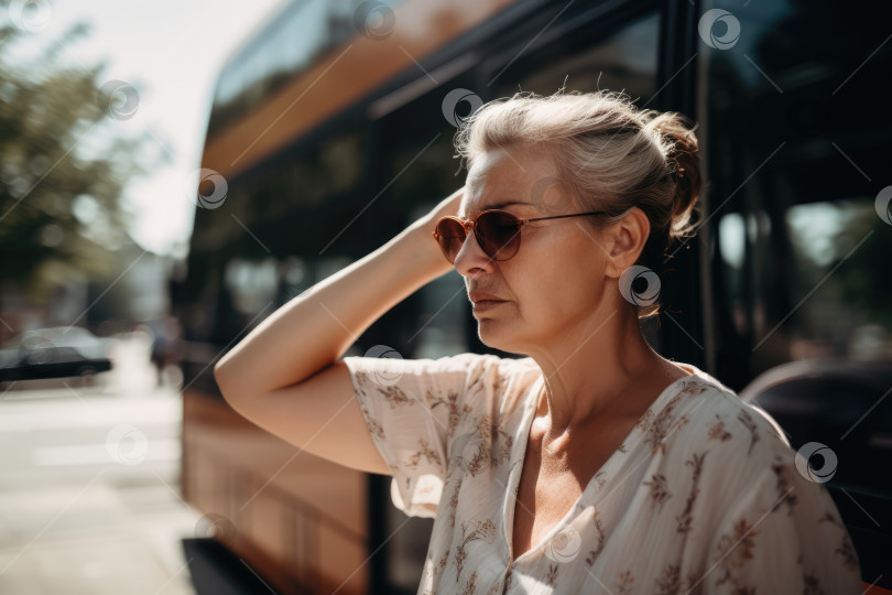
[[(29, 0), (42, 29), (22, 40), (22, 56), (58, 39), (77, 22), (90, 32), (61, 56), (66, 66), (106, 62), (102, 76), (133, 85), (132, 118), (111, 133), (145, 134), (146, 150), (168, 153), (165, 165), (134, 178), (122, 206), (133, 214), (131, 237), (143, 249), (183, 258), (195, 204), (191, 174), (200, 166), (204, 129), (226, 58), (289, 0)], [(32, 15), (35, 14), (32, 12)], [(99, 80), (101, 83), (101, 80)], [(98, 142), (98, 141), (96, 141)]]

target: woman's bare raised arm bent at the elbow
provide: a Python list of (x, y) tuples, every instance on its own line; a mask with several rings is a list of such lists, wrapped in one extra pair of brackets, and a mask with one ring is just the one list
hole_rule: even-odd
[(437, 218), (457, 213), (463, 191), (252, 329), (214, 367), (226, 401), (311, 453), (387, 474), (338, 360), (380, 316), (452, 270), (432, 232)]

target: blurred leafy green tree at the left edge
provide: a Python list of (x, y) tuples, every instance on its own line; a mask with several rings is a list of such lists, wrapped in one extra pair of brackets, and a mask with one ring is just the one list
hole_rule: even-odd
[[(138, 156), (144, 137), (104, 130), (133, 115), (135, 88), (102, 82), (105, 63), (88, 69), (59, 64), (59, 53), (88, 33), (85, 24), (22, 64), (12, 50), (35, 34), (39, 15), (14, 14), (9, 0), (0, 0), (0, 10), (9, 18), (0, 28), (0, 281), (44, 302), (66, 275), (87, 282), (117, 268), (112, 252), (132, 242), (122, 188), (156, 164)], [(90, 148), (104, 137), (106, 149)]]

